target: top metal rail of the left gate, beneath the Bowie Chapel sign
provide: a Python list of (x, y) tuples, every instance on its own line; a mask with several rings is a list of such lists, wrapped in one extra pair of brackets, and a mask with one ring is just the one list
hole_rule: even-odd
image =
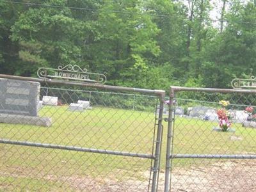
[(147, 90), (141, 88), (129, 88), (124, 86), (111, 86), (105, 84), (98, 84), (98, 83), (84, 83), (78, 81), (63, 81), (63, 80), (53, 80), (53, 79), (39, 79), (34, 77), (21, 77), (21, 76), (9, 76), (0, 74), (0, 78), (6, 79), (15, 79), (21, 81), (35, 81), (42, 84), (61, 84), (61, 85), (74, 85), (74, 86), (84, 86), (90, 88), (99, 88), (99, 89), (106, 89), (106, 90), (113, 90), (113, 91), (120, 91), (120, 92), (138, 92), (138, 93), (151, 93), (161, 96), (164, 99), (165, 91), (164, 90)]

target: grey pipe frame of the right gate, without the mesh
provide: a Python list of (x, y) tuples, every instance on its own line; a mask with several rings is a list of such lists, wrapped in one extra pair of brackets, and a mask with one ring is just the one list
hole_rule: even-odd
[(236, 155), (236, 154), (172, 154), (173, 152), (173, 126), (175, 122), (175, 105), (173, 103), (176, 92), (208, 92), (208, 93), (255, 93), (256, 90), (241, 90), (241, 89), (218, 89), (218, 88), (190, 88), (181, 86), (170, 86), (170, 102), (168, 115), (168, 132), (166, 141), (166, 165), (164, 177), (164, 192), (171, 190), (172, 184), (172, 159), (256, 159), (255, 155)]

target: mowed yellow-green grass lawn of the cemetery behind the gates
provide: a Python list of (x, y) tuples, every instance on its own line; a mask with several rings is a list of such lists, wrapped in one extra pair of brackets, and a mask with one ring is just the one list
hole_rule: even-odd
[[(0, 124), (1, 138), (151, 154), (154, 112), (113, 108), (68, 111), (67, 106), (44, 106), (40, 116), (52, 118), (51, 127)], [(175, 120), (174, 154), (255, 154), (256, 129), (232, 125), (236, 132), (212, 131), (218, 122)], [(167, 123), (163, 123), (161, 168), (165, 164)], [(0, 145), (0, 190), (56, 191), (76, 182), (104, 179), (147, 181), (151, 160), (19, 145)], [(212, 162), (212, 161), (211, 161)], [(173, 167), (209, 163), (202, 159), (175, 159)], [(163, 171), (161, 171), (163, 172)], [(79, 178), (79, 179), (78, 179)], [(82, 180), (81, 180), (82, 178)], [(78, 180), (78, 181), (77, 181)]]

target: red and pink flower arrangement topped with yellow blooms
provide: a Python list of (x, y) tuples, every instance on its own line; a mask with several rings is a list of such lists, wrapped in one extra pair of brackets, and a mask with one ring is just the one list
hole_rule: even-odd
[(231, 122), (229, 120), (230, 115), (225, 107), (227, 107), (230, 103), (227, 100), (220, 100), (220, 104), (222, 108), (217, 110), (219, 126), (221, 131), (228, 131), (228, 128), (231, 127)]

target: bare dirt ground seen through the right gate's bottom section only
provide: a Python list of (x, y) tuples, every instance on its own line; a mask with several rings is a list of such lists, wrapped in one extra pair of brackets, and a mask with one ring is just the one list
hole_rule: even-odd
[[(160, 191), (163, 178), (160, 177)], [(175, 168), (172, 191), (256, 191), (256, 161), (223, 161), (207, 167)]]

